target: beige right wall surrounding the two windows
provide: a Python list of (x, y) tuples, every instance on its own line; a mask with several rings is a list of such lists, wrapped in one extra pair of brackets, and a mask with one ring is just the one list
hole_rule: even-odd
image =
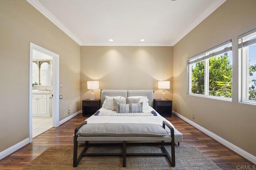
[[(238, 103), (238, 36), (256, 28), (255, 0), (227, 0), (173, 47), (174, 111), (256, 156), (256, 106)], [(232, 39), (232, 102), (186, 94), (186, 59)], [(192, 119), (192, 114), (195, 119)]]

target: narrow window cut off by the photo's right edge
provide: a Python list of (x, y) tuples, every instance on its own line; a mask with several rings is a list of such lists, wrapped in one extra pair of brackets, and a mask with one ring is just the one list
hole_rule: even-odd
[(256, 29), (238, 38), (242, 59), (242, 102), (256, 103)]

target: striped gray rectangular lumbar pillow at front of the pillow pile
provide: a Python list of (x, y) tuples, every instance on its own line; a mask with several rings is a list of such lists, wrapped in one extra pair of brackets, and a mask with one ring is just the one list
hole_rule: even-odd
[(132, 104), (116, 103), (116, 113), (142, 113), (143, 102)]

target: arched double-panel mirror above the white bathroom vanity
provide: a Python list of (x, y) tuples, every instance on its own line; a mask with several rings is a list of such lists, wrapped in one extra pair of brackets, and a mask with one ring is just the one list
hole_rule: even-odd
[(33, 86), (52, 86), (52, 61), (33, 60)]

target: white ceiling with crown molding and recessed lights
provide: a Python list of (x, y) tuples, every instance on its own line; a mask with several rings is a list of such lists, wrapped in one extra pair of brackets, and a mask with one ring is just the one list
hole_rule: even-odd
[(27, 1), (80, 45), (173, 46), (226, 0)]

